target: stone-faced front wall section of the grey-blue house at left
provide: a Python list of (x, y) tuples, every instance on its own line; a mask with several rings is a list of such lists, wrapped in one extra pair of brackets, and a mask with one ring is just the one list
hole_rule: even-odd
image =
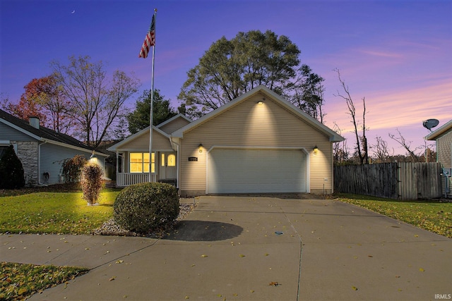
[(17, 156), (22, 162), (25, 186), (37, 185), (37, 141), (11, 141), (17, 145)]

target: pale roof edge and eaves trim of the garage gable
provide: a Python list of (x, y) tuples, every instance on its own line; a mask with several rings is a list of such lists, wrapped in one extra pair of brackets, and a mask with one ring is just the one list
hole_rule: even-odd
[(324, 133), (326, 136), (330, 138), (331, 142), (339, 142), (345, 140), (344, 137), (340, 136), (335, 131), (331, 130), (331, 128), (328, 128), (326, 125), (323, 125), (321, 122), (316, 120), (316, 118), (313, 118), (309, 116), (309, 114), (305, 113), (301, 109), (297, 108), (297, 106), (294, 106), (290, 102), (287, 102), (283, 97), (281, 97), (279, 94), (276, 94), (272, 90), (268, 89), (268, 87), (264, 85), (260, 85), (253, 90), (250, 90), (249, 92), (246, 92), (242, 94), (241, 96), (237, 97), (236, 99), (233, 99), (231, 102), (228, 102), (227, 104), (220, 106), (218, 109), (215, 109), (211, 111), (210, 113), (204, 115), (203, 117), (196, 119), (196, 121), (189, 123), (188, 125), (184, 126), (184, 128), (180, 128), (179, 130), (172, 133), (172, 137), (184, 137), (184, 133), (186, 133), (189, 130), (192, 130), (196, 128), (197, 126), (201, 125), (202, 123), (205, 123), (206, 121), (209, 121), (210, 119), (214, 118), (215, 116), (218, 116), (219, 114), (223, 113), (224, 111), (227, 111), (228, 109), (232, 108), (233, 106), (236, 106), (237, 104), (244, 102), (244, 100), (251, 97), (253, 94), (256, 94), (258, 92), (262, 92), (263, 94), (266, 94), (268, 97), (274, 99), (278, 104), (283, 106), (283, 108), (287, 109), (287, 111), (290, 111), (292, 113), (295, 113), (296, 116), (298, 116), (300, 119), (311, 125), (313, 128), (316, 128), (316, 130), (319, 130), (319, 132)]

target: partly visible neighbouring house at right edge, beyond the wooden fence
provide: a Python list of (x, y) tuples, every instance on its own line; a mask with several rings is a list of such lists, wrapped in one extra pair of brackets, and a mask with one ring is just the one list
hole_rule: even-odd
[[(443, 168), (448, 169), (448, 183), (444, 186), (444, 192), (448, 190), (448, 196), (452, 197), (451, 192), (451, 169), (452, 169), (452, 120), (441, 127), (434, 130), (425, 137), (426, 140), (434, 140), (436, 142), (436, 161), (441, 163)], [(445, 179), (446, 180), (446, 179)]]

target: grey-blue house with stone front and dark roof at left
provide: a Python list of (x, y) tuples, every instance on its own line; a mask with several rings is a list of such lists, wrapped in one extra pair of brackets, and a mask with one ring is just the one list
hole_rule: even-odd
[(92, 147), (69, 135), (40, 126), (38, 118), (30, 117), (27, 122), (0, 110), (0, 158), (9, 145), (13, 145), (22, 162), (25, 185), (28, 186), (63, 182), (61, 166), (65, 159), (76, 154), (81, 154), (86, 159), (94, 154), (92, 160), (102, 166), (104, 171), (105, 158), (108, 156), (93, 152)]

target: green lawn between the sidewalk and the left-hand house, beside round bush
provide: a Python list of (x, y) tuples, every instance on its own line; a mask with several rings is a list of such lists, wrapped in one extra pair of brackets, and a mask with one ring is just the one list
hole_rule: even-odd
[(88, 234), (113, 216), (120, 190), (102, 190), (98, 206), (88, 207), (82, 192), (11, 190), (0, 196), (0, 233)]

